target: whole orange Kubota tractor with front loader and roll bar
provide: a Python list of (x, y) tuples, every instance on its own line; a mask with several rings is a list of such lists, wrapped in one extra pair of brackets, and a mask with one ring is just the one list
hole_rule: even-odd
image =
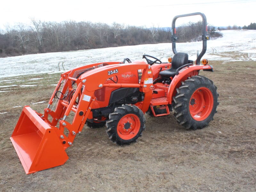
[[(202, 52), (195, 64), (188, 54), (177, 52), (175, 21), (179, 17), (201, 15)], [(186, 129), (201, 129), (213, 119), (218, 105), (217, 87), (199, 76), (213, 71), (207, 60), (206, 18), (203, 13), (178, 15), (172, 20), (172, 50), (168, 63), (143, 55), (145, 61), (101, 62), (62, 73), (44, 114), (29, 106), (22, 110), (11, 141), (27, 174), (64, 164), (65, 149), (73, 144), (84, 124), (106, 124), (114, 143), (130, 144), (145, 129), (144, 114), (169, 115), (174, 112)]]

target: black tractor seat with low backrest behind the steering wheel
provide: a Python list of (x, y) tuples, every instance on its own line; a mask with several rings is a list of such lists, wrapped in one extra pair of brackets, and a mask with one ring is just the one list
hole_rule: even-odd
[(176, 70), (188, 64), (188, 54), (187, 53), (176, 53), (172, 58), (172, 66), (170, 69), (160, 71), (159, 75), (162, 77), (174, 77), (176, 75)]

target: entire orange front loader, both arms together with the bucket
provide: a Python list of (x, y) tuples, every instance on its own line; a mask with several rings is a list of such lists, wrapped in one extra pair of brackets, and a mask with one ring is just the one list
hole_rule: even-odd
[[(140, 83), (105, 83), (106, 79), (131, 69), (143, 71)], [(152, 86), (151, 66), (146, 63), (97, 63), (63, 73), (48, 107), (44, 109), (44, 115), (25, 106), (12, 134), (11, 141), (25, 172), (30, 174), (59, 166), (68, 160), (65, 149), (82, 131), (97, 99), (94, 96), (96, 90), (103, 87), (137, 87), (145, 93), (144, 102), (140, 104), (145, 112), (152, 97)]]

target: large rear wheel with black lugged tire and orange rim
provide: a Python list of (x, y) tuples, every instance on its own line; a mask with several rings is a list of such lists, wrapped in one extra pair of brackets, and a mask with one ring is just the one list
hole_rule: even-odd
[(208, 126), (219, 105), (219, 94), (213, 82), (204, 76), (192, 76), (176, 90), (172, 109), (179, 124), (193, 130)]

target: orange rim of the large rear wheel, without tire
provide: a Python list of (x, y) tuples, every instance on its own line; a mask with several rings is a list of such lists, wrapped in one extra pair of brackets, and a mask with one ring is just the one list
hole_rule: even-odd
[(193, 119), (203, 121), (212, 112), (213, 95), (206, 87), (200, 87), (189, 100), (189, 112)]

